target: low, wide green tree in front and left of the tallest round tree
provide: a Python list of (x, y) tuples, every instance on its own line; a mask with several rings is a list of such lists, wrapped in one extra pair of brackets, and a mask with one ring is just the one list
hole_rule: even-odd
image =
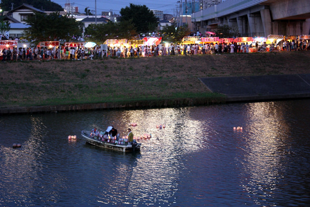
[(102, 44), (107, 39), (133, 39), (137, 35), (135, 25), (131, 20), (106, 24), (89, 24), (85, 29), (89, 35), (88, 41)]

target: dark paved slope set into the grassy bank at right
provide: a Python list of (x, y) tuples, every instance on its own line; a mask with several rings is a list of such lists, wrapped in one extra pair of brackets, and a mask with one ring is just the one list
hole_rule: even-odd
[(310, 98), (310, 74), (200, 78), (226, 102)]

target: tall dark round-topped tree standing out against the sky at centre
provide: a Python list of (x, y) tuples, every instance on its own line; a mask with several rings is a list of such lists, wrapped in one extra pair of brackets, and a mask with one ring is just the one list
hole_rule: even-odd
[(158, 25), (153, 11), (146, 5), (130, 3), (129, 7), (121, 8), (120, 14), (122, 15), (121, 21), (132, 20), (138, 33), (154, 31)]

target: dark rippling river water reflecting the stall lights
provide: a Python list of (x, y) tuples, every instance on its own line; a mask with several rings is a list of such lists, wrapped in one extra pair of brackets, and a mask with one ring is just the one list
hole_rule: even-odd
[[(1, 116), (0, 206), (307, 206), (309, 123), (310, 100)], [(125, 154), (80, 135), (109, 124), (152, 138)]]

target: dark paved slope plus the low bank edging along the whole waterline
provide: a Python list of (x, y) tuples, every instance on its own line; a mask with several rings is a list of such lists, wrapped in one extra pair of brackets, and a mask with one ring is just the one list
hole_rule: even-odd
[(223, 98), (175, 99), (128, 103), (89, 103), (78, 105), (0, 108), (0, 114), (39, 113), (121, 108), (181, 107), (230, 102), (270, 101), (310, 98), (310, 74), (200, 78), (213, 93)]

